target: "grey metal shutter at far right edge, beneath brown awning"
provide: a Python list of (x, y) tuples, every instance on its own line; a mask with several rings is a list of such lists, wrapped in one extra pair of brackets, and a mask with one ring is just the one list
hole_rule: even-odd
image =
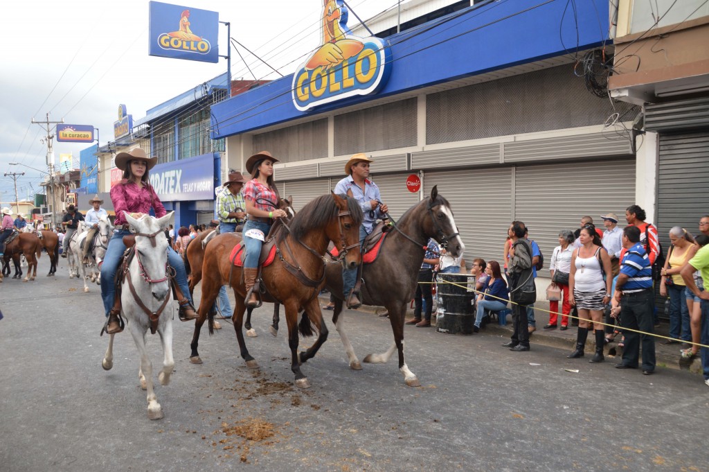
[(666, 254), (672, 226), (698, 234), (699, 219), (709, 213), (709, 132), (661, 133), (659, 146), (656, 221)]

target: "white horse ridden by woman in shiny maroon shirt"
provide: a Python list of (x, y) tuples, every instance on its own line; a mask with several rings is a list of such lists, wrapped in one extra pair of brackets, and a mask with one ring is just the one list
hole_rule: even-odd
[[(164, 359), (157, 379), (160, 380), (160, 385), (169, 384), (175, 363), (172, 358), (172, 297), (167, 265), (168, 243), (163, 231), (172, 212), (160, 219), (153, 216), (135, 219), (125, 212), (124, 214), (126, 221), (135, 231), (135, 256), (130, 260), (128, 273), (121, 283), (121, 313), (128, 320), (128, 331), (140, 352), (138, 378), (140, 387), (147, 390), (147, 417), (160, 419), (163, 417), (162, 408), (152, 388), (152, 363), (145, 343), (149, 328), (152, 334), (155, 334), (155, 331), (160, 334)], [(102, 363), (106, 371), (113, 367), (115, 334), (110, 336)]]

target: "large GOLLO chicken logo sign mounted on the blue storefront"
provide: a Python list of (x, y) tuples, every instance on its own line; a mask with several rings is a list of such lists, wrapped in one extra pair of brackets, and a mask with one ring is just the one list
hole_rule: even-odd
[(347, 28), (342, 0), (325, 0), (318, 49), (296, 70), (291, 87), (296, 109), (376, 92), (389, 78), (389, 48), (379, 38), (359, 38)]

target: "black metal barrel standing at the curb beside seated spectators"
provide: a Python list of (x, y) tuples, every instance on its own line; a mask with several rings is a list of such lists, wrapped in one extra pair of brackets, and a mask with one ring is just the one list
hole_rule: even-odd
[[(437, 278), (436, 331), (445, 334), (473, 334), (473, 302), (476, 294), (474, 290), (468, 290), (468, 282), (474, 284), (475, 276), (438, 274)], [(474, 288), (475, 285), (472, 285), (471, 289)]]

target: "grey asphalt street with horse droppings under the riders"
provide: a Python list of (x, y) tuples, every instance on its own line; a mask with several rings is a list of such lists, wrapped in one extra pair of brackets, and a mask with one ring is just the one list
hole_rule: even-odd
[[(172, 383), (157, 385), (164, 418), (147, 419), (138, 351), (116, 336), (114, 366), (98, 285), (48, 278), (0, 284), (0, 471), (708, 471), (709, 388), (687, 371), (655, 375), (588, 363), (536, 344), (510, 352), (499, 334), (440, 334), (406, 326), (406, 386), (396, 356), (347, 366), (339, 335), (303, 365), (294, 386), (272, 305), (254, 317), (245, 366), (233, 327), (208, 336), (189, 361), (194, 323), (175, 317)], [(199, 292), (198, 292), (199, 295)], [(360, 360), (393, 341), (389, 320), (346, 312)], [(329, 317), (330, 312), (325, 312)], [(301, 339), (308, 345), (311, 339)], [(150, 336), (155, 371), (162, 353)], [(575, 370), (578, 370), (576, 372)], [(157, 383), (157, 381), (156, 381)]]

